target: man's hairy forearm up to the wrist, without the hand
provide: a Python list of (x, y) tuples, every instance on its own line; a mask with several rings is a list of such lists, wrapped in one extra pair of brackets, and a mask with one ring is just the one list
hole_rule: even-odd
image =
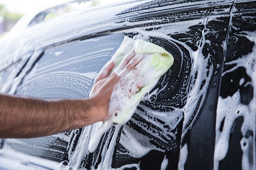
[[(92, 99), (43, 99), (0, 94), (0, 137), (52, 135), (95, 123)], [(83, 124), (81, 121), (83, 120)]]

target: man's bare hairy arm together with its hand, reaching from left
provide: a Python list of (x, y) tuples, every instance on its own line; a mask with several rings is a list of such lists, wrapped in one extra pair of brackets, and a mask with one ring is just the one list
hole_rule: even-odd
[[(127, 65), (130, 59), (124, 62)], [(110, 62), (103, 68), (88, 99), (45, 99), (0, 93), (0, 138), (47, 136), (109, 119), (110, 96), (120, 79), (116, 73), (110, 75), (113, 67), (114, 63)]]

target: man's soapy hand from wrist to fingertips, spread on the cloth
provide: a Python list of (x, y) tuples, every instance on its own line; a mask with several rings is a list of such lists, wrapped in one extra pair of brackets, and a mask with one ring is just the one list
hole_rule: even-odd
[[(135, 57), (135, 52), (131, 51), (120, 63), (117, 70), (113, 71), (115, 67), (113, 61), (110, 61), (106, 66), (101, 69), (100, 74), (96, 77), (94, 81), (94, 86), (90, 93), (90, 98), (96, 105), (96, 112), (93, 112), (95, 122), (106, 121), (112, 116), (108, 113), (110, 97), (112, 95), (113, 88), (117, 83), (124, 84), (127, 83), (126, 77), (130, 71), (136, 68), (136, 65), (141, 62), (141, 58), (137, 59)], [(111, 74), (110, 74), (111, 73)], [(121, 78), (122, 77), (122, 78)], [(127, 89), (129, 91), (129, 89)], [(111, 110), (112, 111), (112, 110)]]

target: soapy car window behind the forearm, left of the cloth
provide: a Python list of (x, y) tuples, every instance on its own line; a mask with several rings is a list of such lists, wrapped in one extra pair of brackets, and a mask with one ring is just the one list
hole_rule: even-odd
[[(113, 41), (115, 40), (115, 41)], [(94, 77), (110, 60), (123, 35), (79, 40), (47, 49), (18, 86), (16, 94), (49, 98), (87, 98)], [(81, 130), (35, 139), (8, 139), (20, 152), (61, 162), (74, 151)], [(74, 146), (73, 146), (74, 145)]]

